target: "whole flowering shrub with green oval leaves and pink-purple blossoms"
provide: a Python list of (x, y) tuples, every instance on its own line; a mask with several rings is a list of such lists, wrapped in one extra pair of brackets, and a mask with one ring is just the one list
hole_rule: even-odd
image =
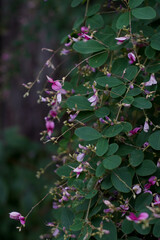
[(72, 1), (85, 7), (85, 16), (60, 54), (77, 53), (81, 60), (61, 80), (47, 76), (39, 99), (51, 108), (42, 140), (58, 144), (54, 161), (60, 164), (60, 180), (50, 190), (51, 233), (42, 238), (157, 239), (160, 1), (98, 2)]

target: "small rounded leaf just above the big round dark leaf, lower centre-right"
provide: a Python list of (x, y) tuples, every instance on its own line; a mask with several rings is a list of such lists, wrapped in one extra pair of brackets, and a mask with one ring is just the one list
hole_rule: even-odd
[(122, 162), (122, 159), (121, 159), (120, 156), (112, 155), (112, 156), (107, 157), (103, 160), (103, 166), (108, 170), (112, 170), (114, 168), (119, 167), (121, 162)]

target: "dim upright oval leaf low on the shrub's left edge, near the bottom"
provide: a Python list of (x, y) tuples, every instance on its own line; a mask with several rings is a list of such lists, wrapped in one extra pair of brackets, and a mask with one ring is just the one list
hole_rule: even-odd
[(69, 208), (63, 208), (61, 211), (61, 223), (66, 229), (73, 224), (74, 214)]

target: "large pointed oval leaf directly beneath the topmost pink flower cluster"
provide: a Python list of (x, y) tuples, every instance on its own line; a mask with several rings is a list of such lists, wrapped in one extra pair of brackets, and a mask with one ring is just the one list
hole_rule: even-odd
[(80, 41), (74, 43), (73, 49), (78, 53), (89, 54), (105, 50), (106, 48), (95, 40), (88, 40), (87, 42)]

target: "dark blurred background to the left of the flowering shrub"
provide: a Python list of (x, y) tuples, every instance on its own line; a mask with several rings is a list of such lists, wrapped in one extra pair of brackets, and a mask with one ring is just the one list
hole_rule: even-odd
[[(52, 220), (52, 199), (48, 197), (29, 216), (21, 233), (17, 221), (9, 219), (9, 212), (28, 211), (47, 193), (55, 181), (54, 166), (40, 179), (36, 172), (51, 161), (56, 153), (52, 144), (40, 142), (39, 133), (45, 129), (45, 104), (38, 104), (37, 91), (42, 88), (45, 68), (30, 96), (23, 98), (23, 83), (36, 79), (51, 56), (42, 48), (56, 50), (63, 37), (70, 33), (77, 14), (69, 0), (1, 0), (0, 1), (0, 239), (36, 240), (48, 229)], [(62, 61), (60, 54), (53, 64)], [(63, 76), (59, 67), (57, 76)], [(47, 204), (48, 203), (48, 204)]]

